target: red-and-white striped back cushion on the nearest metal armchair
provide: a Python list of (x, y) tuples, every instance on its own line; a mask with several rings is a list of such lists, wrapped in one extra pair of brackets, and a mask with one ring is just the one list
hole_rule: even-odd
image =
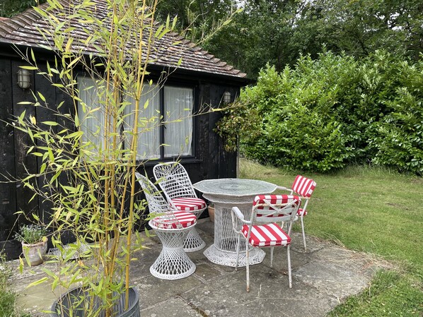
[[(289, 213), (277, 214), (274, 213), (275, 210), (268, 203), (275, 205), (275, 207), (283, 208), (284, 205), (293, 203), (296, 201), (296, 205), (301, 204), (301, 198), (294, 195), (257, 195), (254, 198), (253, 206), (257, 206), (257, 210), (260, 210), (260, 213), (257, 211), (257, 217), (283, 217), (284, 215), (290, 215)], [(288, 211), (288, 210), (286, 210)], [(270, 215), (269, 215), (270, 214)]]

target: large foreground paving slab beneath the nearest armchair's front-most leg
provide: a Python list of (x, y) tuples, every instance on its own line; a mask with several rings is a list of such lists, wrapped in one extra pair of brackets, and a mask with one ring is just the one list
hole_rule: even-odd
[[(337, 300), (314, 287), (297, 283), (289, 289), (288, 277), (265, 267), (250, 267), (250, 292), (245, 291), (245, 268), (224, 279), (209, 281), (182, 294), (204, 316), (324, 316)], [(260, 282), (261, 281), (261, 282)], [(182, 317), (182, 315), (181, 315)]]

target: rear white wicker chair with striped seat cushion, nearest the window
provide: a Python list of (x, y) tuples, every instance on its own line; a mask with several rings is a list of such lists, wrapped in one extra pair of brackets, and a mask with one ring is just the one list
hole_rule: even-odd
[[(198, 219), (207, 204), (197, 197), (185, 168), (178, 162), (159, 163), (153, 167), (153, 173), (170, 205), (175, 209), (190, 212)], [(199, 237), (197, 230), (192, 229), (184, 242), (185, 251), (198, 251), (204, 246), (206, 243)]]

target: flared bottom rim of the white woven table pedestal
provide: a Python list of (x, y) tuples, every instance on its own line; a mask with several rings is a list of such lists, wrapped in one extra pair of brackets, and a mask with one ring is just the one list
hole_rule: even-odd
[[(265, 251), (253, 248), (250, 250), (250, 265), (262, 263), (263, 259), (265, 258)], [(219, 265), (226, 265), (232, 266), (235, 268), (236, 265), (236, 252), (228, 252), (228, 251), (221, 251), (212, 244), (209, 248), (204, 251), (204, 256), (209, 259), (210, 262), (219, 264)], [(239, 262), (238, 267), (246, 266), (245, 263), (245, 249), (240, 250), (239, 253)]]

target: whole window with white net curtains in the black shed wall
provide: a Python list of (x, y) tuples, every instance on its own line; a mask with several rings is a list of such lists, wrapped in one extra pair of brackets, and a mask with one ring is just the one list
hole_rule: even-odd
[[(81, 119), (83, 142), (101, 146), (104, 138), (104, 111), (98, 101), (98, 92), (91, 78), (79, 78), (80, 114), (83, 104), (97, 109)], [(132, 131), (134, 126), (135, 100), (123, 96), (129, 104), (125, 108), (123, 129)], [(144, 84), (139, 102), (139, 136), (137, 158), (139, 160), (163, 159), (192, 155), (192, 131), (194, 90), (177, 86)], [(128, 135), (127, 133), (125, 133)]]

